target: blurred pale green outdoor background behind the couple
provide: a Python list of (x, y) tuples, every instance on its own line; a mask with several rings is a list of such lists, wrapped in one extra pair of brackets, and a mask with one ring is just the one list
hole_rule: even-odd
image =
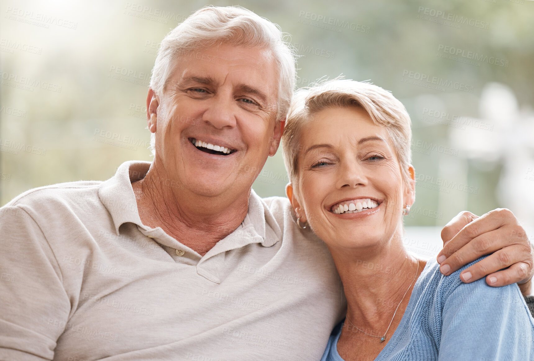
[[(520, 117), (527, 130), (534, 122), (534, 1), (528, 0), (2, 1), (0, 204), (46, 184), (108, 179), (130, 159), (150, 161), (144, 105), (158, 44), (207, 4), (244, 6), (289, 33), (302, 55), (299, 86), (343, 74), (370, 79), (404, 103), (413, 122), (419, 184), (407, 225), (441, 225), (464, 209), (481, 214), (515, 204), (498, 191), (510, 155), (492, 153), (487, 145), (477, 153), (464, 143), (473, 137), (493, 142), (502, 135), (499, 129), (506, 128), (507, 119), (499, 125), (483, 118), (481, 99), (488, 84), (500, 84), (513, 94), (514, 122)], [(453, 56), (452, 48), (456, 59), (447, 58)], [(456, 55), (457, 49), (462, 53)], [(469, 53), (485, 58), (469, 61)], [(129, 73), (114, 78), (116, 69)], [(441, 79), (445, 86), (413, 84), (417, 74)], [(27, 82), (23, 77), (30, 85), (22, 84)], [(36, 81), (41, 85), (32, 86)], [(446, 85), (457, 83), (464, 89)], [(461, 130), (425, 109), (448, 118), (482, 118), (495, 127), (466, 125)], [(105, 143), (105, 132), (119, 135), (114, 145)], [(15, 154), (13, 143), (30, 145), (30, 151)], [(34, 149), (41, 151), (32, 153)], [(521, 149), (531, 152), (525, 158), (530, 162), (534, 148)], [(527, 163), (519, 165), (517, 182), (534, 188)], [(526, 180), (519, 178), (521, 167)], [(467, 191), (439, 186), (439, 179), (462, 184)], [(511, 182), (506, 184), (513, 187)], [(284, 196), (286, 183), (279, 151), (265, 164), (254, 189), (261, 196)], [(528, 212), (532, 206), (521, 213), (527, 223)]]

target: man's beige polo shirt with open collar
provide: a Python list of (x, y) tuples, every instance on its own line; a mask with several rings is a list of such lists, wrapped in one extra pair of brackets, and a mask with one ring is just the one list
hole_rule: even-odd
[(288, 200), (252, 191), (239, 228), (201, 256), (140, 221), (131, 181), (149, 166), (0, 208), (0, 359), (319, 360), (345, 300)]

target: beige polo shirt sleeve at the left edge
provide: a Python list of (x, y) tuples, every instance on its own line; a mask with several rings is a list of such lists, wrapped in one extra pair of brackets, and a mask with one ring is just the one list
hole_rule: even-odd
[(41, 228), (17, 206), (0, 208), (0, 359), (51, 360), (70, 301)]

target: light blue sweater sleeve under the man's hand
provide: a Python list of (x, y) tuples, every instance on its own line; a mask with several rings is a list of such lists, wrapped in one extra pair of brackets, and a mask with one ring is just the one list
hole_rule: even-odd
[(519, 287), (456, 277), (443, 302), (438, 360), (534, 360), (534, 320)]

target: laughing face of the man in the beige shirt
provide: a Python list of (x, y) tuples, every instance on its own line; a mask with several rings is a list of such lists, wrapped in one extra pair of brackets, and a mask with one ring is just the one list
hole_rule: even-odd
[(148, 100), (157, 114), (155, 162), (195, 194), (248, 191), (281, 135), (270, 51), (221, 44), (173, 66), (166, 90)]

